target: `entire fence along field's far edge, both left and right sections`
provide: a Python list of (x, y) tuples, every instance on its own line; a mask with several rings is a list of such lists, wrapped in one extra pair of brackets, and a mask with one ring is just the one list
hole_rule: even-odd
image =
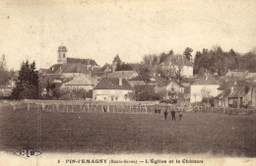
[[(129, 114), (158, 114), (171, 110), (181, 111), (177, 105), (159, 104), (158, 102), (95, 102), (85, 100), (23, 100), (0, 102), (0, 110), (7, 111), (47, 111), (47, 112), (106, 112)], [(211, 112), (229, 115), (256, 115), (256, 109), (237, 109), (196, 106), (190, 111)]]

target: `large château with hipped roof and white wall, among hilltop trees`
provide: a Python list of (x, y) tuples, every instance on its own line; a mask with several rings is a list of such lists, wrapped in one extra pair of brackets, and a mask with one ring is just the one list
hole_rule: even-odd
[(161, 70), (168, 76), (193, 77), (194, 65), (184, 55), (169, 55), (160, 63)]

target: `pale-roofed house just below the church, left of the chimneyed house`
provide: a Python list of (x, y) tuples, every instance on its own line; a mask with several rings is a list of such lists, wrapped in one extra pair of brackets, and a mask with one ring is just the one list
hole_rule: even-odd
[(67, 83), (63, 83), (60, 88), (91, 90), (95, 84), (96, 80), (90, 75), (80, 75)]

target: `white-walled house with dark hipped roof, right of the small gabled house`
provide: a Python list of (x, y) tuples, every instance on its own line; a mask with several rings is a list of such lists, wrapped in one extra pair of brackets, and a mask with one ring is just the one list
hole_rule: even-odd
[(220, 81), (206, 73), (190, 86), (190, 102), (200, 102), (203, 98), (216, 97), (219, 94)]

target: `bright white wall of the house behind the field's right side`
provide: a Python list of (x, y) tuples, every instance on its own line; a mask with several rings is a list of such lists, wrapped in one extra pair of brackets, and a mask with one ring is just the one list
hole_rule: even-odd
[[(218, 95), (218, 87), (219, 84), (192, 84), (190, 86), (190, 102), (193, 103), (195, 102), (200, 102), (203, 99), (202, 96), (202, 89), (207, 89), (210, 90), (210, 96), (216, 97)], [(197, 97), (195, 98), (194, 94), (197, 94)]]

